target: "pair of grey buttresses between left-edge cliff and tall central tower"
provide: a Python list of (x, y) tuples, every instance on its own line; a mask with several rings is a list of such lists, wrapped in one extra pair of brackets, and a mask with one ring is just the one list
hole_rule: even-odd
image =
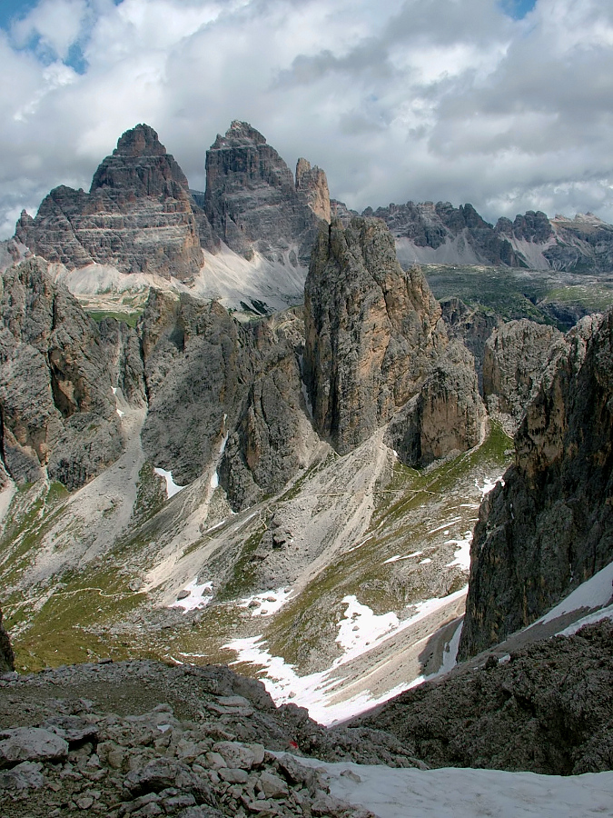
[(242, 325), (214, 302), (152, 290), (141, 331), (143, 447), (178, 484), (220, 457), (220, 482), (241, 508), (308, 464), (315, 435), (304, 411), (297, 314)]

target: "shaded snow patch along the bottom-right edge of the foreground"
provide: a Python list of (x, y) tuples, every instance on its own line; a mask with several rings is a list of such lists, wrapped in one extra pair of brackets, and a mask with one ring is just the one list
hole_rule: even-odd
[(559, 776), (296, 760), (325, 771), (332, 795), (379, 818), (575, 818), (608, 815), (613, 803), (613, 773)]

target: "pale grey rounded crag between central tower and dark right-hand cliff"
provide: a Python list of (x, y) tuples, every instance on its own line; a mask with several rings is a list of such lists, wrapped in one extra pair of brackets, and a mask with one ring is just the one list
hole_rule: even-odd
[(495, 329), (483, 357), (483, 396), (489, 411), (510, 414), (519, 423), (549, 358), (559, 354), (563, 343), (555, 327), (525, 318)]

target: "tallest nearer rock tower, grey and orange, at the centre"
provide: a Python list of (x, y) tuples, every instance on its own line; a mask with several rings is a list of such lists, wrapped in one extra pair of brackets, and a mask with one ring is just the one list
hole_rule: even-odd
[(305, 284), (304, 378), (315, 428), (344, 454), (422, 384), (447, 344), (440, 306), (379, 219), (321, 230)]

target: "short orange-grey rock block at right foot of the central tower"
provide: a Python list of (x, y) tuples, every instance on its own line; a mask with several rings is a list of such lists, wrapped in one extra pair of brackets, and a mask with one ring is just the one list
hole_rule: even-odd
[(403, 463), (424, 466), (478, 445), (485, 417), (474, 359), (463, 344), (451, 341), (420, 393), (391, 421), (386, 443)]

